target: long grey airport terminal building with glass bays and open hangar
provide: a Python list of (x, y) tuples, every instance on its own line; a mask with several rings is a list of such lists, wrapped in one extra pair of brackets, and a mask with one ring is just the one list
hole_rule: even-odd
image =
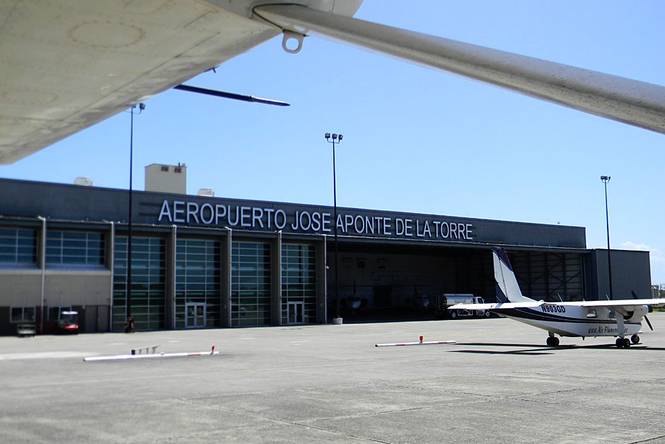
[[(336, 314), (332, 207), (134, 191), (130, 232), (127, 190), (0, 179), (0, 191), (0, 334), (25, 321), (43, 328), (69, 310), (81, 332), (123, 331), (128, 314), (137, 330), (318, 324)], [(524, 295), (608, 293), (607, 251), (586, 248), (584, 227), (337, 213), (345, 322), (434, 319), (422, 298), (441, 293), (495, 301), (495, 245), (509, 252)], [(611, 263), (616, 297), (649, 295), (647, 251), (613, 250)]]

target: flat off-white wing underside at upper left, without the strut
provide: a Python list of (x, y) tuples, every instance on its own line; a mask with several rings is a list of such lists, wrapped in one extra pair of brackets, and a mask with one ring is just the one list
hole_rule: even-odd
[(278, 34), (206, 1), (4, 1), (0, 164), (22, 159)]

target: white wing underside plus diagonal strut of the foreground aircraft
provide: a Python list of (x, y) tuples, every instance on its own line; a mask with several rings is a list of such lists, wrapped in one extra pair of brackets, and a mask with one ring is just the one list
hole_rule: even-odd
[[(665, 133), (665, 88), (352, 18), (362, 0), (13, 0), (0, 8), (0, 164), (255, 45), (319, 33)], [(296, 4), (293, 4), (296, 3)], [(287, 45), (284, 45), (288, 50)], [(291, 51), (294, 52), (294, 51)]]

